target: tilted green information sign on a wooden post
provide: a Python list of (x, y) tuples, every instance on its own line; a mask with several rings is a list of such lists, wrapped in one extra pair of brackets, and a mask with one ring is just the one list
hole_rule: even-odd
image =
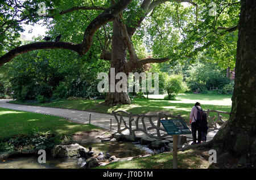
[(183, 119), (168, 119), (168, 120), (160, 120), (164, 129), (166, 130), (168, 135), (172, 135), (173, 138), (173, 149), (172, 151), (172, 168), (177, 169), (177, 139), (180, 134), (191, 134), (192, 132), (189, 130), (186, 123)]

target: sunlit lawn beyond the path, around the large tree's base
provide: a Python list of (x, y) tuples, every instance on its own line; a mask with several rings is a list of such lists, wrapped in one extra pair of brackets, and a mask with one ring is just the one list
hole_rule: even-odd
[[(11, 101), (11, 103), (88, 110), (100, 113), (112, 113), (113, 110), (126, 110), (127, 112), (133, 112), (134, 114), (143, 114), (148, 112), (161, 112), (163, 110), (174, 115), (181, 114), (181, 116), (185, 118), (186, 122), (189, 121), (191, 108), (197, 101), (201, 103), (201, 107), (204, 110), (221, 110), (224, 112), (231, 111), (231, 95), (180, 94), (174, 101), (158, 98), (161, 96), (162, 95), (156, 95), (155, 98), (154, 95), (151, 95), (151, 98), (148, 99), (134, 98), (132, 104), (117, 105), (113, 107), (105, 106), (103, 104), (104, 100), (96, 100), (96, 103), (94, 100), (61, 100), (45, 104), (20, 103), (16, 101)], [(212, 115), (217, 115), (217, 113), (210, 114), (210, 116)], [(226, 114), (222, 114), (222, 116), (224, 119), (229, 118), (229, 115)]]

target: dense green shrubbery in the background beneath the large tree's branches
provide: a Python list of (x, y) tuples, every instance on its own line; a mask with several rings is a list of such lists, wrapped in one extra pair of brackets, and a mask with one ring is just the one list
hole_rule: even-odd
[[(11, 63), (1, 67), (0, 96), (12, 96), (21, 102), (48, 102), (69, 97), (93, 98), (105, 96), (97, 91), (97, 74), (108, 72), (110, 64), (104, 60), (87, 62), (84, 57), (69, 55), (69, 66), (56, 66), (50, 54), (53, 50), (36, 50), (22, 54)], [(100, 54), (94, 53), (100, 56)], [(90, 57), (88, 57), (90, 58)], [(140, 71), (139, 71), (140, 72)], [(169, 100), (178, 93), (232, 94), (233, 80), (226, 78), (226, 69), (216, 63), (204, 63), (197, 58), (195, 63), (170, 67), (168, 63), (152, 64), (146, 72), (159, 73), (159, 92)], [(153, 83), (154, 84), (154, 83)], [(210, 91), (211, 87), (215, 87)], [(131, 93), (136, 96), (140, 93)], [(145, 93), (146, 94), (146, 93)]]

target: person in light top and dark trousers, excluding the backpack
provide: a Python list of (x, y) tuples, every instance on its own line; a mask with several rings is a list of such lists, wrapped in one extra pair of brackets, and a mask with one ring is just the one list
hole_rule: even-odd
[[(190, 123), (191, 123), (191, 131), (192, 131), (192, 136), (193, 136), (193, 143), (192, 144), (200, 144), (202, 140), (202, 132), (201, 132), (201, 127), (199, 124), (196, 122), (197, 119), (197, 108), (201, 109), (201, 104), (200, 102), (196, 102), (195, 106), (193, 106), (191, 113), (190, 113)], [(196, 132), (198, 133), (198, 139), (196, 143)]]

